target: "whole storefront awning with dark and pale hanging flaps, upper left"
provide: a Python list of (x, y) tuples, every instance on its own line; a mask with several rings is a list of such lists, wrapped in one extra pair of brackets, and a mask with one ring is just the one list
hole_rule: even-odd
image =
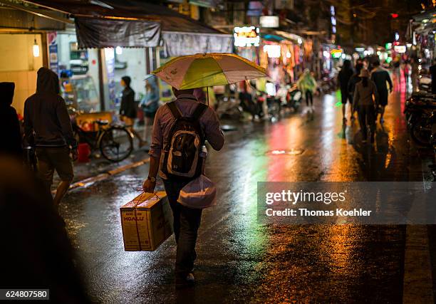
[[(232, 53), (232, 36), (165, 6), (135, 0), (26, 0), (76, 20), (81, 48), (153, 47), (163, 41), (169, 56)], [(162, 33), (162, 34), (161, 34)]]

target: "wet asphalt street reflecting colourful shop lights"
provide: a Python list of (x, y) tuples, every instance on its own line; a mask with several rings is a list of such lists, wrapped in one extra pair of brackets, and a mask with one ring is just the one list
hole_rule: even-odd
[(404, 101), (399, 90), (390, 96), (374, 147), (360, 142), (357, 120), (342, 127), (335, 94), (316, 98), (313, 117), (303, 107), (274, 124), (250, 122), (227, 132), (223, 150), (209, 151), (207, 175), (217, 183), (218, 204), (203, 213), (193, 288), (175, 290), (172, 238), (155, 252), (123, 250), (119, 207), (140, 193), (147, 164), (73, 190), (61, 214), (90, 298), (98, 303), (403, 302), (406, 226), (258, 224), (256, 182), (422, 181), (425, 162), (408, 140)]

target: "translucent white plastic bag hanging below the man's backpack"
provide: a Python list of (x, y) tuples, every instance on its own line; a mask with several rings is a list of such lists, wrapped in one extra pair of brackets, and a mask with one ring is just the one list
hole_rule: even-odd
[(204, 209), (217, 204), (217, 187), (214, 182), (200, 175), (180, 191), (177, 201), (183, 206)]

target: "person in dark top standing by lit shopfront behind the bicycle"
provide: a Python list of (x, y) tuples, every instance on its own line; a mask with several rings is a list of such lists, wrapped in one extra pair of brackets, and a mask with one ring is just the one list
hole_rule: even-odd
[(139, 140), (139, 146), (142, 147), (146, 142), (134, 129), (136, 118), (135, 91), (130, 88), (130, 77), (123, 76), (120, 84), (123, 85), (123, 97), (121, 98), (120, 119), (128, 125), (130, 132)]

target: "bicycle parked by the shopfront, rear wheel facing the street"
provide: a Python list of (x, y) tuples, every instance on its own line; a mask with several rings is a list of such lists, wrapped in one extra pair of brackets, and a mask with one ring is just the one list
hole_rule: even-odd
[(79, 143), (87, 143), (91, 150), (100, 150), (100, 153), (110, 162), (121, 162), (130, 156), (133, 151), (133, 134), (123, 125), (110, 125), (107, 120), (95, 120), (98, 126), (96, 132), (83, 130), (76, 122), (76, 110), (68, 109), (72, 114), (71, 125), (73, 133)]

